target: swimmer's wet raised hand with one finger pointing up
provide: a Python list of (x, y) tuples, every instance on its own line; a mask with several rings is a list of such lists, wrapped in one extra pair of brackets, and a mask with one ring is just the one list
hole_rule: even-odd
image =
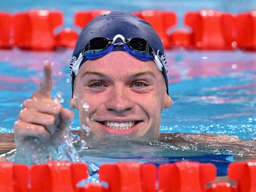
[(73, 113), (51, 99), (51, 88), (51, 64), (44, 61), (40, 85), (31, 98), (23, 102), (18, 120), (13, 126), (17, 150), (34, 139), (39, 143), (53, 143), (56, 147), (63, 141)]

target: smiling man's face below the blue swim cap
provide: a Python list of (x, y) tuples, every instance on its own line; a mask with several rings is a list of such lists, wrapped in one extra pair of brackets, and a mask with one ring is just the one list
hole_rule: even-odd
[(81, 65), (70, 105), (78, 109), (80, 123), (90, 127), (95, 137), (151, 138), (158, 134), (162, 109), (171, 103), (153, 61), (112, 51)]

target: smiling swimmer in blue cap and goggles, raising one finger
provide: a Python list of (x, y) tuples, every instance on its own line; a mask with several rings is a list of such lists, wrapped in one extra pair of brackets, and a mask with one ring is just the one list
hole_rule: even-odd
[[(90, 127), (94, 138), (160, 135), (161, 111), (172, 100), (163, 44), (149, 23), (122, 12), (94, 18), (77, 39), (69, 70), (70, 106), (78, 110), (80, 124)], [(51, 64), (45, 61), (41, 83), (23, 102), (13, 126), (17, 151), (29, 138), (57, 147), (74, 118), (71, 110), (50, 97), (51, 76)], [(239, 141), (217, 134), (162, 135), (206, 143)]]

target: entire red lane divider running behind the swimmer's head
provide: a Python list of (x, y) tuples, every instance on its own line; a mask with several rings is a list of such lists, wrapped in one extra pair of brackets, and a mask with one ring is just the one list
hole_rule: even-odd
[[(109, 10), (78, 11), (74, 25), (84, 27), (92, 18), (107, 14)], [(174, 29), (176, 14), (173, 11), (142, 10), (133, 14), (148, 21), (161, 37), (164, 47), (182, 46), (197, 49), (256, 50), (256, 10), (234, 16), (217, 10), (187, 12), (184, 24), (191, 28)], [(63, 23), (61, 11), (29, 10), (27, 12), (0, 12), (0, 48), (13, 45), (23, 49), (52, 50), (56, 46), (74, 47), (78, 34), (71, 28), (54, 29)], [(171, 29), (172, 28), (172, 29)], [(172, 32), (170, 32), (170, 29)]]

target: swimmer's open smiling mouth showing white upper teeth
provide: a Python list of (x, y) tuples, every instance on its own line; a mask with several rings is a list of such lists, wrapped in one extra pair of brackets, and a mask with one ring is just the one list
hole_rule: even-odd
[(130, 135), (138, 127), (138, 124), (142, 122), (141, 120), (137, 121), (125, 121), (125, 122), (116, 122), (116, 121), (97, 121), (109, 134), (115, 135)]

